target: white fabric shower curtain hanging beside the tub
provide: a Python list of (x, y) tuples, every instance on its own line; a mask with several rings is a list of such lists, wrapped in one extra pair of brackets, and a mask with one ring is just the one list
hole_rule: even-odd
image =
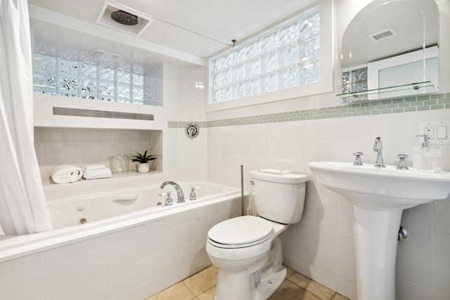
[(0, 234), (51, 230), (34, 152), (27, 0), (0, 0)]

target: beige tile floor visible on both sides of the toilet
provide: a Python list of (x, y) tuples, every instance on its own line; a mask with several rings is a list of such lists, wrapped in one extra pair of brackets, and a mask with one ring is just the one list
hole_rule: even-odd
[[(210, 266), (147, 300), (211, 300), (216, 291), (217, 268)], [(283, 284), (269, 300), (348, 300), (328, 287), (288, 268)], [(237, 300), (237, 299), (236, 299)]]

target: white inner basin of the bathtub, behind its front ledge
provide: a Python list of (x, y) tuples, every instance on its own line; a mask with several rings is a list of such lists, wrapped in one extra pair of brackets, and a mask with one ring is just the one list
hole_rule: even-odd
[[(144, 188), (131, 188), (114, 192), (96, 193), (84, 196), (72, 196), (47, 202), (49, 206), (53, 229), (60, 229), (76, 225), (85, 225), (94, 221), (101, 221), (124, 214), (136, 213), (126, 216), (134, 218), (142, 214), (164, 216), (175, 211), (189, 209), (191, 204), (206, 204), (205, 202), (221, 201), (223, 197), (240, 193), (236, 188), (226, 185), (201, 182), (179, 183), (185, 202), (176, 203), (177, 195), (173, 185), (150, 185)], [(195, 189), (196, 200), (189, 200), (191, 188)], [(170, 192), (172, 205), (165, 206), (167, 196), (160, 196), (160, 192)], [(171, 210), (172, 209), (172, 210)], [(120, 219), (122, 219), (122, 216)]]

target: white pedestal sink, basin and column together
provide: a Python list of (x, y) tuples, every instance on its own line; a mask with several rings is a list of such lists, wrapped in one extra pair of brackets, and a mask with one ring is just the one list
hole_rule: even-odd
[(395, 299), (395, 256), (403, 209), (450, 194), (450, 173), (373, 164), (310, 162), (316, 181), (351, 204), (359, 300)]

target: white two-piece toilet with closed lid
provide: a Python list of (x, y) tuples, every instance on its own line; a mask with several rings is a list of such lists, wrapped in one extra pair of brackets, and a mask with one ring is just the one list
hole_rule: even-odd
[(213, 226), (206, 252), (219, 269), (215, 300), (268, 299), (283, 283), (278, 235), (302, 218), (307, 175), (289, 171), (250, 171), (259, 216), (238, 216)]

